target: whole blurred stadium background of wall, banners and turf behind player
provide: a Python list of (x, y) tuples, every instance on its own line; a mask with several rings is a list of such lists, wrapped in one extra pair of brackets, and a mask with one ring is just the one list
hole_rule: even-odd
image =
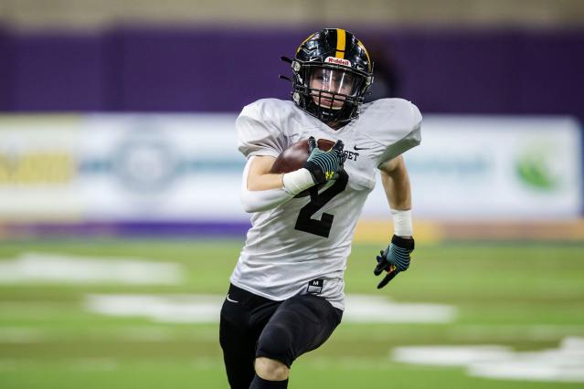
[(424, 114), (418, 247), (377, 291), (377, 188), (344, 323), (290, 387), (582, 387), (579, 0), (0, 0), (0, 387), (227, 387), (233, 121), (324, 26)]

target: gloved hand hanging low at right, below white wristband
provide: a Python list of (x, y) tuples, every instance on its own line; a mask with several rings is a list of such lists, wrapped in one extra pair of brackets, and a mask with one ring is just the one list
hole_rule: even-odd
[(373, 270), (376, 276), (384, 270), (388, 272), (388, 275), (377, 285), (377, 289), (385, 287), (400, 271), (406, 271), (409, 268), (409, 254), (414, 251), (414, 246), (413, 237), (394, 235), (391, 238), (388, 248), (380, 251), (377, 256), (377, 266)]

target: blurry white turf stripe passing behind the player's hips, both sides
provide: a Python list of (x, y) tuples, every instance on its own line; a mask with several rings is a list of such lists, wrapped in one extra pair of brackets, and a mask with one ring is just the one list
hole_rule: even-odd
[[(225, 297), (214, 295), (89, 295), (91, 312), (111, 316), (142, 316), (162, 322), (218, 322)], [(344, 322), (444, 323), (456, 317), (456, 309), (439, 304), (398, 303), (383, 297), (349, 295)]]

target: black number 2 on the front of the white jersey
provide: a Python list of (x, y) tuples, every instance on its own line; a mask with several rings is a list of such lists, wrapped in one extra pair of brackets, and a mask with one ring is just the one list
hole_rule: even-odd
[(331, 227), (333, 226), (334, 215), (324, 213), (320, 220), (313, 219), (311, 216), (318, 212), (318, 210), (326, 203), (331, 201), (335, 195), (343, 192), (348, 182), (349, 174), (343, 170), (339, 173), (339, 178), (336, 179), (332, 186), (327, 188), (323, 193), (316, 195), (314, 198), (311, 196), (310, 203), (304, 205), (300, 209), (294, 229), (317, 235), (319, 237), (328, 237), (331, 233)]

